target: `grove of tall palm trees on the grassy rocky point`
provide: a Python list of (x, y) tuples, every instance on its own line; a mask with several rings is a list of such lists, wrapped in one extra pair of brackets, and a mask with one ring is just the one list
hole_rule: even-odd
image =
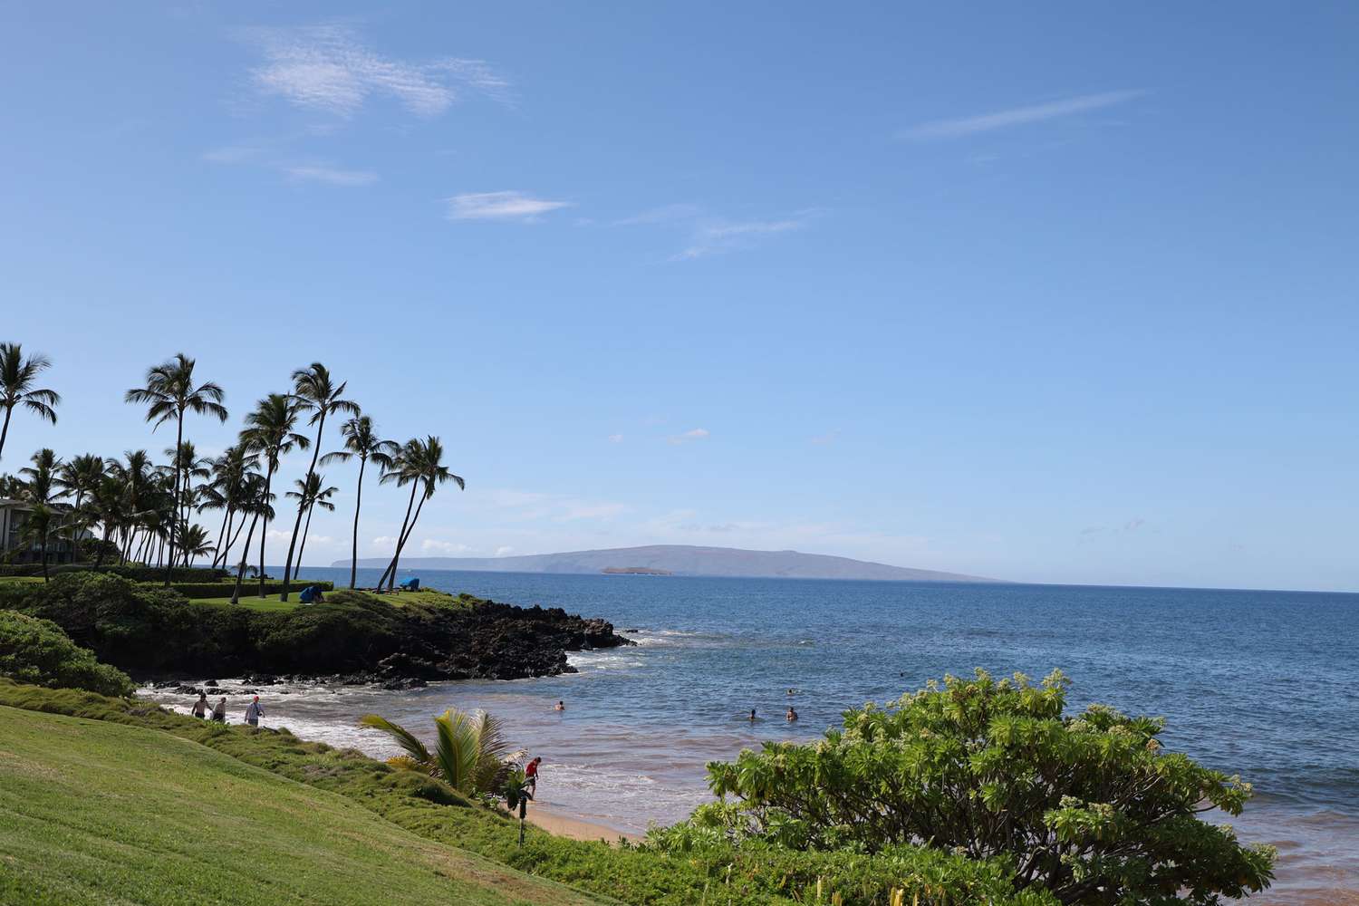
[[(26, 410), (56, 422), (61, 397), (38, 386), (52, 367), (46, 356), (26, 356), (19, 344), (0, 342), (0, 454), (12, 413)], [(372, 418), (347, 398), (347, 383), (337, 382), (322, 363), (292, 372), (289, 393), (269, 394), (246, 416), (239, 441), (216, 458), (197, 452), (185, 436), (185, 416), (198, 414), (226, 421), (226, 391), (213, 382), (198, 382), (196, 361), (185, 353), (149, 368), (140, 386), (126, 391), (125, 401), (145, 407), (152, 431), (175, 425), (175, 443), (156, 462), (145, 450), (125, 450), (118, 456), (86, 452), (63, 460), (52, 450), (41, 450), (33, 465), (18, 474), (0, 474), (0, 497), (27, 504), (29, 528), (16, 532), (23, 549), (10, 550), (5, 562), (18, 558), (43, 564), (82, 561), (105, 564), (155, 564), (163, 583), (173, 570), (209, 560), (212, 566), (235, 566), (239, 599), (246, 573), (258, 577), (257, 592), (265, 595), (265, 538), (273, 522), (277, 493), (275, 477), (292, 451), (311, 451), (304, 475), (294, 482), (289, 503), (296, 503), (280, 596), (306, 553), (311, 516), (317, 508), (334, 511), (337, 486), (326, 485), (317, 466), (359, 459), (355, 484), (352, 558), (359, 557), (359, 516), (363, 482), (368, 465), (379, 469), (383, 482), (410, 485), (401, 530), (382, 581), (395, 584), (401, 553), (420, 519), (425, 501), (450, 481), (465, 486), (461, 477), (443, 463), (443, 444), (436, 436), (412, 439), (398, 446), (378, 436)], [(325, 428), (332, 416), (348, 416), (341, 424), (341, 450), (321, 455)], [(299, 432), (302, 418), (315, 427), (315, 435)], [(43, 511), (33, 509), (42, 505)], [(216, 530), (194, 522), (196, 516), (220, 511)], [(258, 539), (258, 541), (257, 541)], [(255, 561), (249, 562), (251, 550)], [(54, 551), (54, 553), (53, 553)], [(351, 566), (349, 587), (356, 585), (357, 566)], [(379, 583), (381, 584), (381, 583)]]

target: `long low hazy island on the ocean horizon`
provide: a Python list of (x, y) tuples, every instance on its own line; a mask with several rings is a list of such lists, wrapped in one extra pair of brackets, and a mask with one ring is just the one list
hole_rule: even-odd
[[(620, 568), (617, 564), (636, 564)], [(337, 560), (332, 566), (349, 566)], [(359, 566), (383, 568), (386, 558), (359, 560)], [(474, 572), (530, 573), (639, 573), (675, 576), (730, 576), (749, 579), (878, 579), (887, 581), (998, 581), (934, 569), (890, 566), (848, 557), (803, 554), (796, 550), (739, 550), (737, 547), (694, 547), (690, 545), (650, 545), (609, 550), (573, 550), (560, 554), (522, 557), (405, 557), (402, 570), (466, 569)]]

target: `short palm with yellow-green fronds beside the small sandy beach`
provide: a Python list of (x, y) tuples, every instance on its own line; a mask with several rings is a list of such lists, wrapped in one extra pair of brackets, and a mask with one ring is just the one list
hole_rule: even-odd
[(438, 777), (466, 796), (496, 795), (523, 753), (508, 751), (500, 721), (484, 710), (450, 708), (434, 719), (435, 750), (401, 724), (379, 714), (364, 714), (360, 727), (381, 729), (406, 753), (393, 759), (401, 767)]

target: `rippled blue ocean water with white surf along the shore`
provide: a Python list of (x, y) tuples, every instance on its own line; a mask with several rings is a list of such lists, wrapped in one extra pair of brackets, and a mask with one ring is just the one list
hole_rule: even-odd
[[(376, 572), (360, 570), (360, 584)], [(348, 570), (304, 575), (348, 581)], [(385, 736), (356, 728), (360, 714), (428, 735), (429, 717), (450, 705), (485, 708), (544, 758), (542, 800), (644, 830), (708, 799), (705, 762), (762, 739), (810, 740), (847, 708), (950, 672), (1038, 679), (1061, 668), (1071, 706), (1165, 716), (1167, 746), (1254, 784), (1257, 797), (1230, 823), (1276, 844), (1282, 860), (1275, 891), (1253, 902), (1359, 903), (1359, 595), (419, 575), (428, 587), (603, 617), (640, 644), (572, 655), (579, 674), (544, 679), (272, 689), (265, 724), (389, 755)], [(559, 700), (563, 712), (552, 709)]]

